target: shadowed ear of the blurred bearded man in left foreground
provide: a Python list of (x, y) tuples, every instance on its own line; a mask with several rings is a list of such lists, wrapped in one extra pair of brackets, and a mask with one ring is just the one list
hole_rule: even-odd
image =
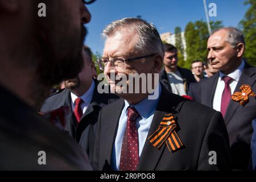
[(18, 11), (19, 3), (19, 0), (0, 0), (0, 14)]

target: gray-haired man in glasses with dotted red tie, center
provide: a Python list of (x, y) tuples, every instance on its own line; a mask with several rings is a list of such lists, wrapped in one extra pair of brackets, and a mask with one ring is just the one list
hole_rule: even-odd
[(124, 18), (109, 24), (103, 36), (105, 48), (98, 63), (122, 99), (101, 110), (94, 167), (229, 169), (229, 140), (221, 113), (159, 84), (164, 48), (156, 28), (142, 19)]

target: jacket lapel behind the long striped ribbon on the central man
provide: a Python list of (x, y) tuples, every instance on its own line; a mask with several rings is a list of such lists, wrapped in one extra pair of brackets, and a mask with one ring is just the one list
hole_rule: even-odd
[[(166, 98), (168, 97), (172, 98), (172, 102), (166, 102)], [(179, 114), (179, 109), (183, 101), (184, 99), (182, 97), (176, 96), (175, 94), (170, 94), (166, 89), (162, 87), (162, 94), (160, 96), (158, 106), (156, 107), (154, 118), (152, 119), (152, 123), (150, 126), (150, 130), (148, 131), (147, 138), (150, 137), (150, 135), (152, 135), (156, 131), (156, 129), (158, 129), (158, 126), (165, 114), (171, 113), (176, 116)], [(155, 170), (165, 148), (166, 144), (163, 144), (163, 146), (160, 147), (159, 150), (152, 146), (152, 144), (148, 140), (146, 140), (142, 150), (141, 158), (139, 159), (137, 170)]]

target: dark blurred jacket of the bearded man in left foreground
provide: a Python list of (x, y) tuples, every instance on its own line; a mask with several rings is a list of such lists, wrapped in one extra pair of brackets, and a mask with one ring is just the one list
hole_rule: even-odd
[[(0, 170), (92, 169), (71, 138), (1, 86), (0, 95)], [(46, 165), (39, 165), (39, 151)]]

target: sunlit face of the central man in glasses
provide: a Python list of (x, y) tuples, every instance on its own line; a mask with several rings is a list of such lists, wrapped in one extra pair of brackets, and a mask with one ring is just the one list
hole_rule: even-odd
[[(132, 57), (143, 56), (143, 53), (135, 49), (135, 44), (138, 41), (137, 32), (131, 32), (129, 30), (122, 30), (110, 36), (105, 43), (104, 53), (102, 58), (108, 60), (114, 59), (130, 59)], [(104, 74), (110, 84), (110, 89), (112, 92), (122, 92), (124, 89), (129, 89), (130, 80), (128, 79), (129, 74), (141, 74), (141, 73), (154, 73), (152, 57), (147, 59), (138, 59), (133, 61), (127, 61), (125, 69), (119, 68), (117, 66), (113, 67), (111, 63), (105, 66)], [(118, 85), (118, 80), (114, 78), (126, 77), (127, 88), (122, 85)], [(141, 84), (141, 83), (140, 83)], [(135, 85), (141, 88), (141, 85)], [(119, 94), (123, 95), (125, 93)]]

